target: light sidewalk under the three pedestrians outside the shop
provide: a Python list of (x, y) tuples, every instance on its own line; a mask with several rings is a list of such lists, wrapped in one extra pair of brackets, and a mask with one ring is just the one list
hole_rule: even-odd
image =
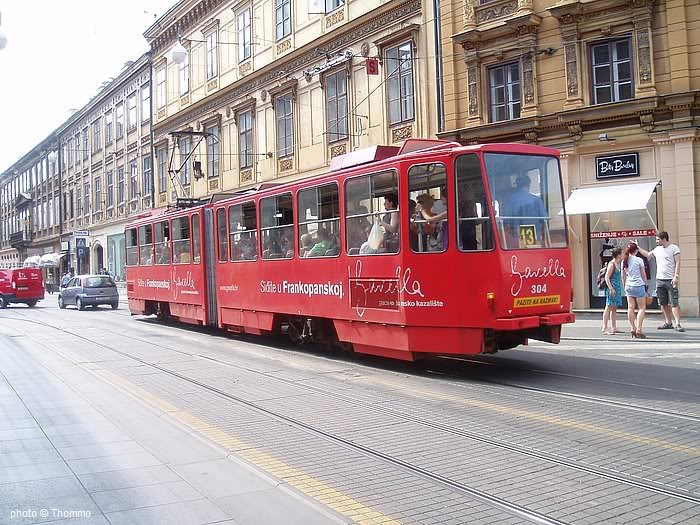
[[(624, 333), (613, 336), (603, 335), (602, 310), (574, 310), (576, 322), (564, 325), (562, 340), (569, 341), (615, 341), (630, 339), (630, 325), (627, 320), (627, 310), (618, 310), (617, 329)], [(658, 330), (664, 322), (661, 311), (648, 311), (644, 319), (644, 334), (647, 340), (668, 343), (700, 343), (700, 319), (697, 317), (681, 318), (685, 332), (675, 330)]]

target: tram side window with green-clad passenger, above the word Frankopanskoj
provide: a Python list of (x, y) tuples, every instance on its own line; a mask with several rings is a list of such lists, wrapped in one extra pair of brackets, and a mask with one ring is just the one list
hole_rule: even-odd
[(333, 257), (339, 253), (340, 208), (338, 186), (327, 184), (301, 190), (299, 212), (299, 256)]

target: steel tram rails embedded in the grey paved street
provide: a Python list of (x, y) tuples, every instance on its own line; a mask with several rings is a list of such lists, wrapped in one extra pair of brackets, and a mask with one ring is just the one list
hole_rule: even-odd
[[(33, 320), (33, 322), (37, 322), (37, 321)], [(469, 494), (472, 497), (481, 499), (482, 501), (488, 501), (491, 504), (499, 506), (501, 508), (505, 508), (504, 507), (504, 505), (505, 505), (506, 507), (508, 507), (510, 509), (511, 512), (513, 512), (513, 513), (515, 513), (523, 518), (527, 518), (528, 520), (530, 520), (534, 523), (557, 523), (556, 521), (551, 521), (550, 518), (548, 518), (544, 515), (541, 515), (539, 513), (536, 513), (536, 512), (532, 515), (529, 515), (529, 517), (528, 517), (528, 513), (533, 513), (533, 511), (522, 508), (522, 507), (518, 506), (517, 504), (513, 504), (511, 502), (501, 500), (500, 498), (498, 498), (496, 496), (487, 494), (483, 491), (480, 491), (479, 489), (475, 489), (474, 487), (469, 487), (469, 486), (461, 484), (455, 480), (445, 478), (444, 476), (441, 476), (438, 473), (427, 471), (418, 465), (407, 463), (400, 458), (387, 455), (379, 450), (375, 450), (375, 449), (372, 449), (370, 447), (366, 447), (362, 444), (356, 443), (354, 441), (350, 441), (350, 440), (345, 439), (341, 436), (329, 433), (321, 428), (317, 428), (317, 427), (314, 427), (312, 425), (309, 425), (309, 424), (307, 424), (307, 423), (305, 423), (297, 418), (290, 417), (290, 416), (287, 416), (285, 414), (279, 413), (277, 411), (271, 410), (269, 408), (262, 407), (255, 402), (243, 399), (243, 398), (236, 396), (230, 392), (221, 390), (214, 385), (210, 385), (210, 384), (204, 383), (202, 381), (199, 381), (197, 379), (188, 377), (186, 375), (183, 375), (182, 373), (170, 370), (164, 366), (157, 365), (154, 363), (149, 363), (148, 361), (140, 358), (139, 356), (135, 356), (135, 355), (130, 354), (128, 352), (124, 352), (122, 350), (110, 347), (108, 345), (105, 345), (104, 343), (101, 343), (99, 341), (95, 341), (94, 339), (91, 339), (91, 338), (86, 337), (82, 334), (76, 333), (74, 331), (65, 329), (63, 327), (55, 326), (53, 324), (45, 323), (45, 322), (41, 322), (41, 321), (40, 321), (40, 323), (46, 327), (62, 331), (62, 332), (69, 334), (73, 337), (83, 339), (86, 342), (90, 342), (93, 344), (99, 344), (99, 345), (103, 346), (104, 348), (108, 349), (109, 351), (112, 351), (112, 352), (119, 354), (123, 357), (126, 357), (128, 359), (135, 360), (143, 365), (157, 369), (157, 370), (159, 370), (163, 373), (166, 373), (172, 377), (176, 377), (180, 380), (197, 385), (198, 387), (203, 388), (209, 392), (215, 393), (215, 394), (217, 394), (225, 399), (228, 399), (229, 401), (236, 402), (238, 404), (244, 405), (246, 407), (249, 407), (251, 409), (254, 409), (256, 411), (264, 413), (270, 417), (274, 417), (278, 420), (293, 424), (294, 426), (301, 428), (301, 429), (304, 429), (307, 432), (311, 432), (315, 435), (322, 436), (325, 439), (329, 439), (331, 441), (334, 441), (334, 442), (341, 444), (343, 446), (352, 448), (354, 450), (361, 451), (364, 454), (381, 459), (381, 460), (383, 460), (387, 463), (390, 463), (394, 466), (400, 466), (401, 468), (404, 468), (410, 472), (413, 472), (414, 474), (418, 474), (426, 479), (431, 479), (433, 481), (439, 482), (443, 485), (449, 486), (449, 487), (451, 487), (455, 490), (458, 490), (462, 493)], [(108, 330), (108, 331), (110, 331), (110, 330)], [(297, 381), (292, 381), (292, 380), (281, 378), (281, 377), (278, 377), (275, 375), (270, 375), (268, 373), (252, 370), (252, 369), (247, 368), (247, 367), (242, 367), (240, 365), (230, 363), (230, 362), (223, 360), (223, 359), (218, 359), (218, 358), (213, 357), (211, 355), (178, 350), (178, 349), (174, 349), (171, 347), (167, 347), (165, 345), (155, 343), (151, 340), (147, 340), (144, 338), (129, 336), (129, 335), (125, 335), (125, 334), (122, 334), (122, 333), (119, 333), (116, 331), (111, 331), (111, 332), (114, 334), (118, 334), (122, 337), (126, 337), (126, 338), (134, 340), (134, 341), (138, 341), (140, 343), (145, 343), (145, 344), (148, 344), (151, 346), (155, 346), (157, 348), (167, 349), (169, 351), (173, 351), (173, 352), (176, 352), (179, 354), (187, 355), (189, 357), (205, 359), (205, 360), (215, 362), (215, 363), (220, 364), (220, 365), (224, 365), (224, 366), (231, 367), (234, 369), (239, 369), (239, 370), (245, 371), (247, 373), (257, 374), (257, 375), (265, 377), (265, 379), (267, 379), (267, 380), (274, 380), (274, 381), (277, 381), (280, 383), (285, 383), (287, 385), (293, 385), (295, 388), (303, 388), (309, 392), (322, 394), (325, 397), (337, 399), (338, 401), (342, 401), (343, 403), (352, 404), (358, 408), (362, 408), (364, 410), (376, 413), (377, 415), (381, 414), (381, 415), (385, 415), (385, 416), (391, 416), (393, 418), (397, 418), (397, 419), (400, 419), (400, 420), (408, 422), (408, 423), (420, 425), (424, 428), (431, 428), (433, 430), (437, 430), (439, 432), (442, 432), (442, 433), (445, 433), (448, 435), (459, 436), (461, 438), (470, 439), (470, 440), (473, 440), (475, 442), (485, 444), (487, 446), (492, 446), (492, 447), (497, 447), (497, 448), (500, 448), (503, 450), (508, 450), (508, 451), (516, 453), (516, 454), (525, 455), (525, 456), (528, 456), (528, 457), (531, 457), (531, 458), (534, 458), (534, 459), (537, 459), (540, 461), (545, 461), (545, 462), (548, 462), (551, 464), (556, 464), (556, 465), (559, 465), (562, 467), (573, 469), (573, 470), (576, 470), (578, 472), (585, 472), (589, 475), (605, 478), (605, 479), (614, 481), (616, 483), (622, 483), (622, 484), (625, 484), (627, 486), (633, 486), (633, 487), (636, 487), (638, 489), (642, 489), (645, 491), (651, 491), (651, 492), (654, 492), (656, 494), (660, 494), (660, 495), (663, 495), (666, 497), (676, 498), (676, 499), (691, 502), (694, 504), (700, 504), (700, 495), (699, 494), (692, 493), (692, 492), (687, 491), (687, 490), (683, 490), (679, 487), (674, 487), (672, 485), (667, 485), (667, 484), (663, 484), (663, 483), (644, 481), (641, 478), (635, 479), (635, 477), (633, 477), (632, 475), (621, 474), (617, 471), (606, 470), (606, 469), (598, 467), (598, 466), (581, 464), (580, 462), (568, 459), (568, 458), (563, 457), (563, 456), (558, 456), (558, 455), (555, 455), (552, 453), (547, 453), (547, 452), (538, 451), (538, 450), (532, 450), (532, 449), (529, 449), (527, 447), (523, 447), (521, 445), (516, 445), (516, 444), (505, 442), (503, 440), (484, 436), (484, 435), (481, 435), (481, 434), (476, 433), (476, 432), (471, 432), (471, 431), (465, 430), (463, 428), (455, 427), (452, 425), (441, 424), (441, 423), (437, 423), (435, 421), (430, 421), (430, 420), (427, 420), (425, 418), (421, 418), (421, 417), (418, 417), (418, 416), (415, 416), (412, 414), (408, 414), (405, 412), (394, 410), (390, 407), (377, 406), (376, 404), (357, 400), (357, 399), (348, 397), (346, 395), (339, 394), (337, 392), (332, 392), (332, 391), (325, 390), (323, 388), (318, 388), (318, 387), (308, 385), (308, 384), (300, 384)], [(503, 386), (513, 387), (514, 385), (504, 384)], [(527, 389), (536, 391), (538, 393), (552, 394), (552, 392), (549, 392), (546, 389), (534, 389), (531, 387), (527, 387)], [(554, 392), (554, 393), (561, 394), (558, 392)], [(577, 399), (582, 400), (582, 401), (586, 401), (586, 402), (595, 402), (595, 403), (599, 403), (599, 404), (605, 403), (605, 400), (589, 398), (587, 396), (580, 396), (580, 397), (577, 397)], [(636, 410), (652, 413), (655, 415), (662, 415), (662, 416), (666, 416), (666, 417), (677, 417), (677, 418), (683, 418), (686, 420), (689, 419), (692, 421), (700, 421), (700, 418), (694, 417), (694, 416), (689, 416), (686, 414), (680, 414), (680, 413), (675, 413), (675, 412), (665, 413), (663, 411), (656, 411), (656, 410), (649, 409), (648, 407), (641, 407), (641, 406), (640, 407), (631, 407), (628, 404), (619, 403), (619, 402), (609, 402), (608, 404), (610, 404), (611, 406), (615, 406), (617, 408), (626, 408), (626, 409), (634, 408)], [(523, 513), (525, 513), (525, 514), (523, 514)], [(544, 521), (541, 521), (541, 520), (544, 520)]]

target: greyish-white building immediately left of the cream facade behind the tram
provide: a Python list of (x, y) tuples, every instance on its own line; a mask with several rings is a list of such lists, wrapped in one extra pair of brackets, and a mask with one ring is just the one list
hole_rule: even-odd
[(69, 266), (125, 277), (124, 224), (153, 204), (148, 54), (56, 131)]

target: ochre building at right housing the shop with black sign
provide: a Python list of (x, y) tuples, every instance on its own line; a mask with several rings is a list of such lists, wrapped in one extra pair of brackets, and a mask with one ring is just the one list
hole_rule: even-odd
[(441, 10), (439, 136), (561, 151), (574, 305), (602, 307), (595, 277), (612, 248), (651, 248), (658, 228), (680, 246), (681, 306), (698, 315), (700, 2), (461, 0)]

